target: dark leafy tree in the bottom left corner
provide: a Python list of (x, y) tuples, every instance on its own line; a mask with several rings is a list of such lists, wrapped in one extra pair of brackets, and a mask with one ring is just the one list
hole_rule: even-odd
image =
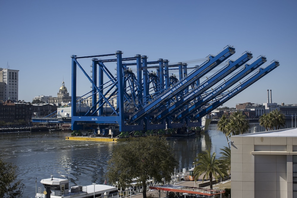
[(24, 192), (24, 184), (20, 180), (16, 180), (16, 166), (2, 159), (0, 153), (0, 197), (17, 198), (22, 197)]

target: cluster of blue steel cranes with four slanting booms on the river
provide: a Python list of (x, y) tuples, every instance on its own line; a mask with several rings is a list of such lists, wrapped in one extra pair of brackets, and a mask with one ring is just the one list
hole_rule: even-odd
[[(167, 59), (148, 61), (139, 54), (123, 58), (122, 51), (72, 55), (72, 104), (76, 101), (71, 107), (72, 130), (114, 129), (115, 135), (122, 135), (201, 126), (203, 116), (279, 66), (278, 61), (272, 61), (260, 67), (267, 61), (264, 56), (249, 64), (253, 58), (250, 52), (228, 59), (234, 53), (235, 48), (228, 45), (216, 56), (200, 59), (202, 64), (194, 67), (182, 62), (169, 64)], [(80, 64), (88, 59), (91, 75)], [(115, 68), (116, 74), (110, 68)], [(78, 71), (91, 83), (80, 96)], [(79, 112), (86, 99), (91, 101), (88, 110)]]

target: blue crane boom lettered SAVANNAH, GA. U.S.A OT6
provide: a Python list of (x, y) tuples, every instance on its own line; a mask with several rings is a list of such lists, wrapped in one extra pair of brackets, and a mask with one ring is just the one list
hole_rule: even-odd
[(158, 122), (162, 118), (168, 116), (169, 114), (172, 114), (174, 111), (176, 112), (179, 108), (184, 108), (185, 103), (189, 103), (192, 99), (199, 96), (203, 91), (210, 88), (212, 85), (218, 83), (220, 80), (222, 80), (224, 77), (228, 76), (231, 72), (236, 70), (238, 67), (246, 63), (252, 58), (251, 53), (244, 53), (240, 58), (238, 58), (236, 61), (228, 61), (228, 65), (225, 68), (222, 68), (217, 73), (209, 77), (207, 80), (202, 82), (200, 85), (196, 86), (195, 89), (192, 89), (188, 94), (186, 94), (184, 97), (182, 97), (180, 100), (176, 101), (175, 103), (171, 104), (167, 109), (162, 110), (155, 116), (154, 122)]

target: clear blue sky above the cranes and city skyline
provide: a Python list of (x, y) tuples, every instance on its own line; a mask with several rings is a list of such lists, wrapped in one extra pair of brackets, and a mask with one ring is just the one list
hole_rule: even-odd
[[(71, 95), (71, 55), (123, 51), (170, 63), (216, 55), (232, 45), (280, 66), (223, 106), (297, 103), (297, 1), (0, 1), (0, 67), (19, 71), (19, 99)], [(252, 63), (250, 61), (249, 63)], [(91, 61), (88, 62), (88, 66)], [(86, 68), (89, 72), (91, 67)], [(113, 69), (110, 69), (111, 71)], [(86, 85), (84, 85), (86, 83)], [(89, 89), (87, 79), (82, 85)], [(79, 94), (79, 93), (78, 93)]]

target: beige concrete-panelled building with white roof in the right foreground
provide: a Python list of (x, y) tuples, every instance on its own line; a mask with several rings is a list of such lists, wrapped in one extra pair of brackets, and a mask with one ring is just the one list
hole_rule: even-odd
[(231, 197), (297, 197), (297, 128), (231, 137)]

